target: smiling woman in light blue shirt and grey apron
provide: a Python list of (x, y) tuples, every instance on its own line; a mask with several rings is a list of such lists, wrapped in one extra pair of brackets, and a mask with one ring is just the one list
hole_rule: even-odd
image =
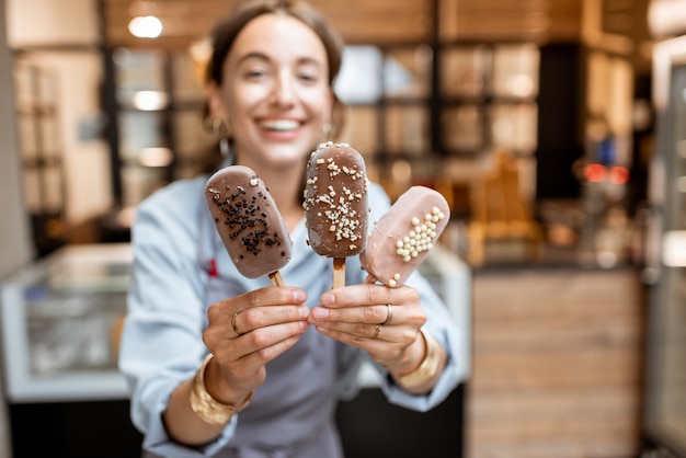
[[(207, 175), (144, 201), (119, 350), (132, 417), (149, 456), (340, 458), (334, 412), (359, 388), (362, 363), (373, 364), (390, 402), (426, 411), (460, 380), (460, 333), (419, 273), (396, 288), (365, 283), (355, 254), (344, 260), (345, 285), (332, 288), (330, 260), (308, 244), (307, 160), (342, 125), (338, 34), (307, 3), (248, 0), (210, 38), (207, 124), (224, 137), (220, 167), (247, 167), (251, 182), (268, 187), (293, 242), (278, 270), (288, 286), (239, 272), (215, 222), (235, 231), (250, 222), (210, 217)], [(378, 184), (362, 184), (378, 220), (390, 199)], [(219, 187), (250, 194), (235, 182)], [(230, 206), (249, 220), (264, 217), (254, 198)]]

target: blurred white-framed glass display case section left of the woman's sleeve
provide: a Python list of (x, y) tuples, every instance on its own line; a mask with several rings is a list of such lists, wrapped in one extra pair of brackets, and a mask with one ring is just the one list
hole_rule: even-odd
[(127, 399), (116, 369), (130, 249), (68, 245), (0, 287), (11, 403)]

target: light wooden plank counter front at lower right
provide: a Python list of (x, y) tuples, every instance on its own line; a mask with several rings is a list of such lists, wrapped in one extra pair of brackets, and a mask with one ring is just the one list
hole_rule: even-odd
[(638, 456), (633, 271), (477, 272), (473, 294), (469, 458)]

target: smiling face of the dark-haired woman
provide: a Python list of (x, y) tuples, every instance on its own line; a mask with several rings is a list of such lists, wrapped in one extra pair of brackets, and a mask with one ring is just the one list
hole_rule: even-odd
[(253, 167), (301, 163), (321, 141), (332, 103), (321, 39), (286, 15), (245, 25), (225, 61), (222, 87), (210, 89), (210, 106), (230, 127), (239, 160)]

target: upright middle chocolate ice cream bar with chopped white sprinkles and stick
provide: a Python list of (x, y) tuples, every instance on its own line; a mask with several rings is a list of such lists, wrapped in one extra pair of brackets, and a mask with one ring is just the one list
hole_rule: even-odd
[(350, 145), (330, 141), (312, 152), (302, 206), (310, 247), (333, 257), (334, 288), (345, 285), (345, 257), (367, 241), (367, 187), (364, 159)]

